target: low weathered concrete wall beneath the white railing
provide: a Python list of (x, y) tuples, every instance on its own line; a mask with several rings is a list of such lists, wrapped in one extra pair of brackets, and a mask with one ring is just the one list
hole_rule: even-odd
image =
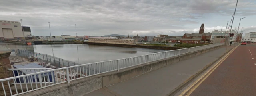
[(94, 90), (98, 90), (102, 87), (110, 86), (116, 83), (120, 83), (127, 79), (143, 75), (150, 71), (154, 71), (171, 65), (178, 61), (186, 60), (194, 56), (198, 56), (202, 53), (208, 52), (220, 48), (221, 46), (216, 46), (214, 48), (208, 48), (205, 50), (200, 50), (196, 52), (191, 52), (188, 54), (182, 54), (180, 56), (175, 56), (171, 58), (166, 58), (163, 60), (153, 61), (150, 63), (145, 63), (137, 65), (134, 67), (128, 67), (125, 69), (120, 69), (119, 71), (111, 71), (107, 73), (102, 73), (99, 75), (92, 75), (86, 78), (80, 78), (77, 80), (70, 81), (70, 84), (59, 84), (56, 86), (50, 86), (44, 89), (36, 90), (21, 96), (82, 96), (88, 94)]

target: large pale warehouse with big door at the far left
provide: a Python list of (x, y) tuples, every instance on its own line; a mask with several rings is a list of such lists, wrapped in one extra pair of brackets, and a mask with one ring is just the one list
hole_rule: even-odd
[(0, 39), (1, 40), (24, 40), (22, 27), (18, 21), (0, 20)]

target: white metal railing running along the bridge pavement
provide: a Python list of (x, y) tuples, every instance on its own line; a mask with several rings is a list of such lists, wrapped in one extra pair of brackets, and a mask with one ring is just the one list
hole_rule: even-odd
[[(34, 90), (39, 90), (49, 86), (54, 86), (61, 83), (70, 83), (70, 81), (85, 78), (92, 75), (98, 75), (100, 73), (106, 73), (110, 71), (118, 71), (120, 69), (170, 58), (173, 56), (179, 56), (189, 52), (194, 52), (206, 48), (212, 48), (215, 46), (224, 45), (224, 43), (210, 44), (205, 46), (197, 46), (192, 48), (184, 48), (179, 50), (170, 50), (165, 52), (158, 52), (154, 54), (147, 54), (142, 56), (135, 56), (130, 58), (123, 58), (118, 60), (101, 61), (96, 63), (88, 63), (82, 65), (74, 65), (70, 67), (63, 67), (58, 69), (51, 69), (36, 73), (30, 73), (26, 75), (19, 75), (16, 77), (10, 77), (6, 79), (0, 79), (4, 94), (20, 95)], [(19, 83), (17, 80), (19, 79)], [(20, 80), (21, 79), (21, 80)], [(22, 81), (23, 80), (23, 81)], [(14, 85), (10, 86), (10, 82)], [(26, 90), (22, 89), (22, 86), (26, 86)], [(31, 89), (28, 88), (31, 86)], [(14, 88), (15, 90), (12, 90)], [(21, 92), (18, 92), (17, 87), (21, 87)], [(13, 91), (13, 92), (12, 92)], [(15, 94), (13, 94), (15, 93)]]

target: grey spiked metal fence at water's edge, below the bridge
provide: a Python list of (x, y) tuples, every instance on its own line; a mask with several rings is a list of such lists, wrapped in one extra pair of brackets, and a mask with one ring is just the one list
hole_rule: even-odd
[[(55, 56), (47, 55), (47, 54), (41, 54), (37, 52), (31, 52), (27, 50), (20, 50), (17, 49), (17, 54), (22, 58), (30, 58), (34, 57), (38, 60), (42, 60), (43, 62), (50, 63), (53, 69), (55, 68), (62, 68), (62, 67), (68, 67), (68, 66), (74, 66), (74, 65), (80, 65), (78, 63), (75, 63), (73, 61), (64, 60), (62, 58), (58, 58)], [(46, 67), (46, 64), (41, 64), (42, 66)]]

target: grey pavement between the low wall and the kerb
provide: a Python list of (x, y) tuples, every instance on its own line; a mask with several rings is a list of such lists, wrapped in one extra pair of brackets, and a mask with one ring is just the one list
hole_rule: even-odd
[[(228, 46), (228, 50), (231, 50), (235, 46)], [(179, 61), (121, 83), (100, 88), (99, 90), (95, 90), (84, 96), (170, 95), (170, 93), (172, 93), (178, 86), (190, 79), (193, 75), (196, 75), (210, 63), (217, 61), (222, 55), (228, 52), (228, 50), (223, 46), (216, 50), (206, 52), (184, 61)]]

